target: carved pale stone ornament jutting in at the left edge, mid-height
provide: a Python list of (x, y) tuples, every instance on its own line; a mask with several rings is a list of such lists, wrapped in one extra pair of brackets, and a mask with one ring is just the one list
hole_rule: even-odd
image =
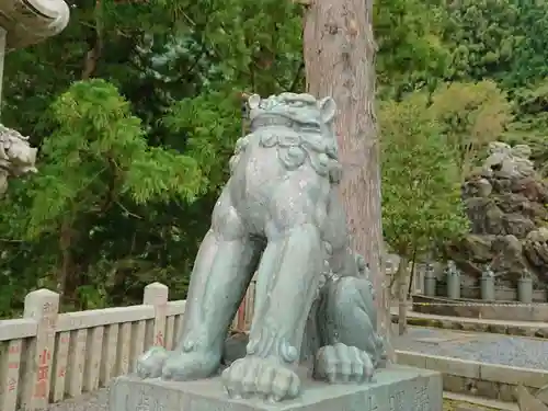
[(5, 193), (10, 178), (36, 172), (36, 151), (28, 137), (0, 125), (0, 195)]

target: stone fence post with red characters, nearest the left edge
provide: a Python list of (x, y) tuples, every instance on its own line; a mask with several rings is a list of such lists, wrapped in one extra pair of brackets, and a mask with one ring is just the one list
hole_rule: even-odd
[(26, 350), (21, 409), (44, 410), (49, 400), (55, 329), (59, 315), (59, 295), (37, 289), (26, 295), (24, 318), (36, 321), (36, 338)]

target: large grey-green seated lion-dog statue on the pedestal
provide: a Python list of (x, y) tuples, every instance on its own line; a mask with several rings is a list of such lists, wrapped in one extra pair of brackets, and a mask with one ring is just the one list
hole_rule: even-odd
[[(369, 381), (384, 340), (338, 197), (334, 101), (282, 93), (248, 103), (251, 133), (237, 142), (199, 247), (179, 344), (145, 353), (137, 373), (199, 379), (230, 363), (221, 374), (230, 396), (273, 401), (299, 395), (296, 367), (308, 358), (315, 378)], [(228, 328), (255, 272), (249, 342), (227, 361)]]

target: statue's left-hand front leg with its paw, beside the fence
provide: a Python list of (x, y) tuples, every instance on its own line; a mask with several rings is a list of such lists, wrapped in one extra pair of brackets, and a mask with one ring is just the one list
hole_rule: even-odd
[(260, 251), (225, 189), (196, 255), (179, 344), (171, 353), (145, 354), (138, 364), (141, 377), (156, 377), (161, 370), (165, 379), (186, 380), (217, 372), (228, 327), (251, 281)]

